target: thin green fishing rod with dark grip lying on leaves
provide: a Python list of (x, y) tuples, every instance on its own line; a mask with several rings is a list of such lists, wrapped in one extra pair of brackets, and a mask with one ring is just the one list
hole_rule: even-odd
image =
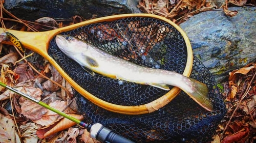
[(34, 99), (32, 98), (31, 96), (29, 96), (28, 94), (25, 94), (23, 92), (20, 92), (2, 82), (0, 82), (0, 85), (18, 95), (21, 95), (55, 113), (57, 113), (58, 115), (60, 116), (63, 116), (73, 122), (75, 122), (76, 124), (86, 128), (88, 130), (88, 132), (90, 132), (90, 136), (92, 138), (95, 138), (97, 140), (99, 140), (100, 142), (106, 142), (106, 143), (118, 143), (118, 142), (123, 142), (123, 143), (132, 143), (133, 141), (127, 139), (127, 138), (124, 138), (123, 136), (120, 136), (118, 134), (116, 134), (115, 132), (113, 132), (112, 130), (104, 127), (103, 125), (101, 125), (100, 123), (96, 123), (96, 124), (86, 124), (74, 117), (71, 117), (71, 116), (68, 116), (66, 113), (62, 112), (62, 111), (59, 111), (53, 107), (50, 107), (48, 104), (46, 104), (45, 102), (42, 102), (40, 100), (37, 100), (37, 99)]

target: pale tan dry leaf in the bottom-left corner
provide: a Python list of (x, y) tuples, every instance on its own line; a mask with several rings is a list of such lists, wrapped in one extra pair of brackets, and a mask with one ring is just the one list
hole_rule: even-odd
[(16, 131), (14, 122), (6, 118), (0, 113), (0, 140), (1, 142), (20, 142), (19, 138), (16, 138)]

